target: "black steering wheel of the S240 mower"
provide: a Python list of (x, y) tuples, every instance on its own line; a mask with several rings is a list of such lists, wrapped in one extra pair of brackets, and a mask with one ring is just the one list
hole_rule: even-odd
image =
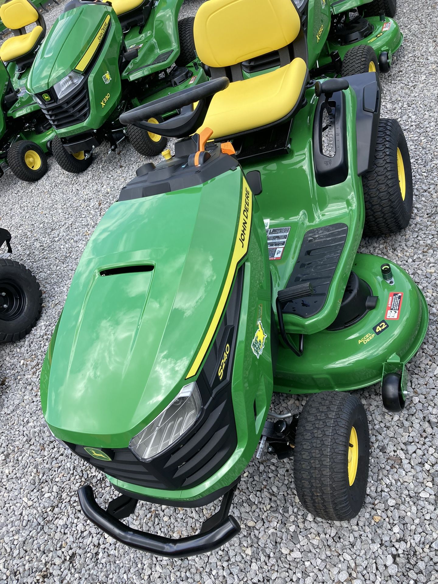
[[(120, 116), (123, 126), (133, 124), (142, 130), (153, 132), (168, 138), (185, 138), (196, 132), (206, 118), (208, 106), (215, 93), (227, 89), (230, 81), (227, 77), (211, 79), (194, 87), (183, 89), (174, 95), (145, 103), (142, 106), (124, 112)], [(193, 103), (199, 102), (193, 110)], [(151, 117), (178, 110), (178, 115), (159, 124), (150, 124)]]

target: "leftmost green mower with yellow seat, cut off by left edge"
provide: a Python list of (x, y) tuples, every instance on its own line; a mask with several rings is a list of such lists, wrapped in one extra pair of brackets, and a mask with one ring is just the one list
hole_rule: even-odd
[[(0, 18), (14, 33), (0, 47), (0, 165), (7, 164), (19, 179), (32, 182), (47, 171), (46, 153), (54, 137), (25, 88), (46, 25), (28, 0), (8, 0), (0, 7)], [(33, 24), (26, 33), (26, 26)]]

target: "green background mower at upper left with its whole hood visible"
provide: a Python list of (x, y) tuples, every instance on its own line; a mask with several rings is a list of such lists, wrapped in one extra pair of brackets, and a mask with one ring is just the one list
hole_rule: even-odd
[[(126, 135), (142, 155), (166, 138), (119, 116), (129, 107), (206, 81), (195, 60), (193, 18), (178, 22), (183, 0), (71, 0), (34, 61), (27, 89), (55, 130), (53, 155), (69, 172), (91, 164), (104, 140)], [(151, 119), (151, 123), (159, 120)]]

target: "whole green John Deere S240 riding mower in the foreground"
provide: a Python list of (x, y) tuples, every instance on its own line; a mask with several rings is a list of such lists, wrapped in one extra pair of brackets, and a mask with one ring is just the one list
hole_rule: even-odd
[[(86, 517), (171, 557), (238, 533), (232, 496), (258, 444), (258, 456), (293, 459), (312, 515), (356, 516), (370, 441), (351, 392), (380, 384), (383, 406), (401, 411), (427, 329), (411, 277), (357, 252), (362, 234), (402, 230), (412, 212), (408, 147), (397, 121), (380, 119), (376, 72), (310, 81), (294, 4), (254, 1), (197, 12), (210, 81), (121, 116), (179, 138), (175, 155), (142, 165), (100, 221), (41, 371), (50, 431), (119, 493), (103, 509), (83, 486)], [(242, 79), (267, 48), (281, 67)], [(273, 391), (309, 395), (281, 416)], [(139, 500), (219, 498), (190, 537), (121, 521)]]

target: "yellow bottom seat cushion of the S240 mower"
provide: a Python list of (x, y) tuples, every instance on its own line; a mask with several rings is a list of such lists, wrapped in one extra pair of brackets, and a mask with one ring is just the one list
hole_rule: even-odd
[(204, 127), (212, 138), (223, 138), (272, 124), (292, 112), (307, 81), (307, 65), (300, 57), (275, 71), (230, 83), (216, 93)]

